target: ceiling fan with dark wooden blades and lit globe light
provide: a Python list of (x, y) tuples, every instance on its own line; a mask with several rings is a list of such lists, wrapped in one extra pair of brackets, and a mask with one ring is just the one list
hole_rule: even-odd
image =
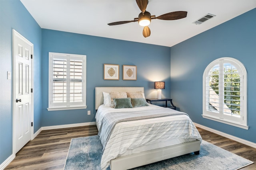
[(143, 36), (149, 37), (150, 36), (150, 29), (148, 25), (150, 24), (151, 20), (158, 19), (158, 20), (179, 20), (182, 18), (186, 18), (187, 13), (186, 11), (176, 11), (176, 12), (170, 12), (167, 14), (163, 14), (161, 16), (152, 16), (149, 12), (146, 11), (148, 0), (136, 0), (138, 7), (141, 10), (141, 13), (139, 14), (138, 18), (134, 18), (132, 21), (118, 21), (118, 22), (112, 22), (108, 23), (108, 25), (120, 25), (124, 23), (130, 23), (130, 22), (137, 22), (139, 25), (143, 26), (144, 29), (142, 31)]

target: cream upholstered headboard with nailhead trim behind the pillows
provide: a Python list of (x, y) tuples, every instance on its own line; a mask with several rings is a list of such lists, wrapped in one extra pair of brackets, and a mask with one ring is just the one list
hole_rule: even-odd
[(139, 92), (144, 93), (144, 87), (96, 87), (95, 88), (95, 109), (97, 110), (103, 104), (102, 92)]

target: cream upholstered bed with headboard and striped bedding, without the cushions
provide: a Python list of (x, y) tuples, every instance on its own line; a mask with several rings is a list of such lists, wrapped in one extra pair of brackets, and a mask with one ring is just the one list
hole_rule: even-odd
[[(143, 87), (95, 88), (96, 126), (104, 147), (102, 170), (108, 166), (111, 170), (127, 170), (187, 153), (199, 154), (202, 138), (186, 113), (152, 104), (111, 108), (105, 105), (103, 93), (112, 92), (141, 92), (144, 98)], [(162, 115), (156, 116), (156, 112)], [(128, 115), (125, 121), (110, 125), (123, 115)], [(146, 119), (134, 119), (144, 116)]]

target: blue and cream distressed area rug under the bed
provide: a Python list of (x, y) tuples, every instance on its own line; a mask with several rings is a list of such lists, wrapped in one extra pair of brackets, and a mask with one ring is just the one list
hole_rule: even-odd
[[(98, 135), (71, 140), (64, 170), (100, 170), (102, 145)], [(253, 162), (202, 141), (200, 154), (177, 156), (132, 170), (238, 170)], [(108, 167), (107, 170), (110, 170)]]

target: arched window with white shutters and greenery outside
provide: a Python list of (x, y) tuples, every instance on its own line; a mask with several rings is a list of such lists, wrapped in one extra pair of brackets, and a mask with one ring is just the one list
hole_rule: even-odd
[(247, 74), (240, 61), (216, 59), (204, 70), (203, 117), (236, 127), (247, 126)]

